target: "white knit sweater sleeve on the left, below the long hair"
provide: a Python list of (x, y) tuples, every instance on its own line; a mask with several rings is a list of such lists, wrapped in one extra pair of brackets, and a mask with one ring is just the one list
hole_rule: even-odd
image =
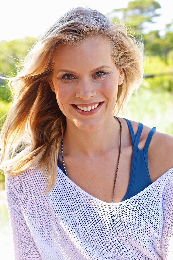
[(42, 259), (20, 207), (18, 176), (5, 176), (7, 206), (12, 228), (15, 259)]

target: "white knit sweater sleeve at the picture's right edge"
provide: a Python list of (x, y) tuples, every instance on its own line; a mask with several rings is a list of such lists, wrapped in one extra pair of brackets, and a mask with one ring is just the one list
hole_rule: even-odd
[(169, 170), (167, 181), (162, 195), (163, 229), (162, 229), (162, 254), (163, 259), (173, 259), (173, 168)]

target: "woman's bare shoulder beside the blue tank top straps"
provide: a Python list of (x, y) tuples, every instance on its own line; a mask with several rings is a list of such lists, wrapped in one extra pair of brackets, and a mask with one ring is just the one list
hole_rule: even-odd
[[(130, 120), (136, 136), (138, 122)], [(152, 128), (143, 124), (138, 148), (143, 150), (148, 134)], [(152, 182), (173, 167), (173, 137), (169, 134), (155, 131), (148, 148), (148, 166)]]

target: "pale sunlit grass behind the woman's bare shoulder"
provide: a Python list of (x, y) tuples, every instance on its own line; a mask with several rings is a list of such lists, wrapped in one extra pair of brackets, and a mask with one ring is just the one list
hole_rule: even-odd
[(171, 92), (138, 89), (138, 96), (132, 94), (128, 107), (130, 114), (125, 118), (141, 122), (161, 133), (173, 135), (173, 99)]

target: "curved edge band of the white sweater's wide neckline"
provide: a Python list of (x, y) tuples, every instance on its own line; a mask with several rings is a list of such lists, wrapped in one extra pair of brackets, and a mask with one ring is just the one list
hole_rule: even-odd
[(76, 183), (74, 183), (68, 176), (66, 176), (63, 171), (57, 166), (57, 178), (58, 178), (58, 173), (61, 174), (62, 178), (64, 178), (67, 182), (69, 182), (71, 185), (73, 185), (76, 189), (78, 189), (80, 192), (82, 192), (83, 194), (85, 194), (85, 196), (87, 196), (89, 199), (93, 200), (96, 203), (99, 203), (100, 205), (106, 205), (106, 206), (118, 206), (121, 204), (125, 204), (130, 202), (131, 200), (136, 199), (137, 197), (139, 197), (142, 193), (145, 193), (146, 191), (148, 191), (152, 186), (157, 185), (157, 183), (159, 183), (163, 178), (165, 178), (165, 176), (167, 175), (167, 173), (173, 169), (170, 168), (167, 172), (165, 172), (164, 174), (162, 174), (157, 180), (155, 180), (153, 183), (151, 183), (148, 187), (146, 187), (144, 190), (142, 190), (141, 192), (135, 194), (133, 197), (128, 198), (124, 201), (121, 202), (115, 202), (115, 203), (110, 203), (110, 202), (104, 202), (103, 200), (97, 199), (94, 196), (92, 196), (91, 194), (89, 194), (88, 192), (84, 191), (81, 187), (79, 187)]

